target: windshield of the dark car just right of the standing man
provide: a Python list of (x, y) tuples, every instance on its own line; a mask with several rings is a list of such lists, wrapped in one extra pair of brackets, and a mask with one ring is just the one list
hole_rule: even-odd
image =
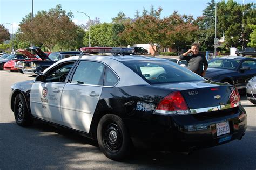
[(238, 67), (240, 60), (234, 59), (212, 59), (208, 61), (208, 67), (210, 68), (224, 68), (232, 69)]

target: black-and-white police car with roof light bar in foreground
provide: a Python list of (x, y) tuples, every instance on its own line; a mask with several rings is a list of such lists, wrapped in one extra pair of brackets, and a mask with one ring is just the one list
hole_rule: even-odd
[(106, 157), (132, 147), (189, 150), (241, 139), (247, 116), (234, 86), (206, 81), (129, 48), (81, 48), (33, 81), (11, 87), (20, 126), (39, 119), (96, 140)]

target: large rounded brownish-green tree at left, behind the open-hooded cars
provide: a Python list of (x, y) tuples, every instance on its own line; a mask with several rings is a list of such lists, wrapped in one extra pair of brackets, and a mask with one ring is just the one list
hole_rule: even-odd
[(72, 12), (66, 13), (60, 5), (49, 11), (38, 11), (33, 20), (30, 14), (19, 24), (21, 39), (43, 45), (52, 50), (56, 44), (73, 40), (78, 27), (72, 22)]

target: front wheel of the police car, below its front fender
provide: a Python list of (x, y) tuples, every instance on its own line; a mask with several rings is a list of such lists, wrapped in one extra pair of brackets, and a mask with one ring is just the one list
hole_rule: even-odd
[(18, 94), (15, 97), (14, 117), (19, 126), (29, 126), (33, 123), (33, 117), (26, 107), (26, 101), (22, 94)]

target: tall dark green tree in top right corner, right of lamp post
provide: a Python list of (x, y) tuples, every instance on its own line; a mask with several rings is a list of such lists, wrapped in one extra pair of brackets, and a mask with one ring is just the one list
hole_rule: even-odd
[(240, 5), (233, 0), (221, 1), (217, 4), (217, 29), (225, 34), (228, 47), (246, 47), (250, 41), (252, 30), (249, 24), (255, 24), (253, 3)]

